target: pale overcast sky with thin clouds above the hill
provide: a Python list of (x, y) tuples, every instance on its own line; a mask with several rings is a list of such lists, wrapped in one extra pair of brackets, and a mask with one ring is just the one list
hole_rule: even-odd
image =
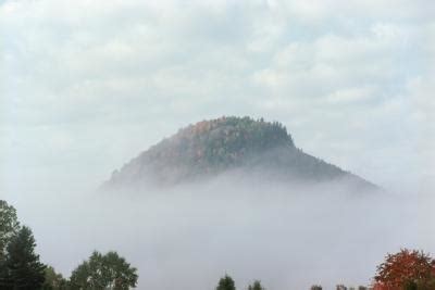
[(222, 115), (279, 121), (386, 188), (428, 187), (435, 2), (351, 2), (0, 1), (0, 194), (96, 187)]

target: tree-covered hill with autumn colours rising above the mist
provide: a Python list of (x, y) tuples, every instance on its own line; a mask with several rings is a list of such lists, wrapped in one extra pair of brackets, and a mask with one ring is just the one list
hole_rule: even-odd
[(303, 153), (281, 123), (225, 116), (179, 129), (115, 171), (104, 187), (167, 186), (212, 178), (231, 169), (288, 181), (346, 178), (372, 187)]

